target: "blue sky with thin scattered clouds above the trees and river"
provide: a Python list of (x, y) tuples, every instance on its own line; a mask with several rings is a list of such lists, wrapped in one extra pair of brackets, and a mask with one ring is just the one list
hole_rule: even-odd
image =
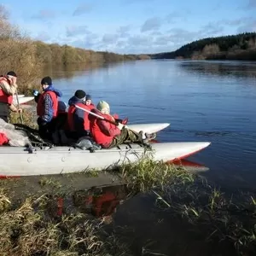
[(200, 38), (256, 31), (256, 0), (2, 0), (31, 38), (120, 54), (172, 51)]

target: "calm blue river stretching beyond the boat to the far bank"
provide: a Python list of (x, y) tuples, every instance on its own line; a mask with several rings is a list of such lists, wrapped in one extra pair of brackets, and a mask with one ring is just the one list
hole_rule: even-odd
[(189, 160), (220, 184), (256, 182), (256, 62), (152, 60), (52, 69), (65, 102), (77, 89), (130, 123), (170, 122), (160, 142), (209, 141)]

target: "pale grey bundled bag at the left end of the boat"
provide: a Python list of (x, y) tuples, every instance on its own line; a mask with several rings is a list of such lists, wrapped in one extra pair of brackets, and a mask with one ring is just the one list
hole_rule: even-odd
[(9, 139), (10, 146), (24, 147), (31, 144), (25, 131), (15, 130), (15, 125), (6, 123), (3, 119), (0, 119), (0, 132)]

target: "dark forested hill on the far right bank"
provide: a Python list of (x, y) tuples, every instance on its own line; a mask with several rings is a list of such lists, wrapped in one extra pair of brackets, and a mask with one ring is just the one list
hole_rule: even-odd
[(247, 60), (256, 61), (256, 33), (246, 32), (204, 38), (172, 51), (150, 55), (152, 59)]

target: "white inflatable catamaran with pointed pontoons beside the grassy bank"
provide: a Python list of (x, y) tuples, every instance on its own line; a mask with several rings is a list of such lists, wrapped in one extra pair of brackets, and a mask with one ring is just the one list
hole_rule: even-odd
[[(134, 131), (157, 133), (169, 123), (129, 125)], [(72, 146), (52, 147), (0, 147), (0, 176), (34, 176), (83, 172), (94, 168), (98, 171), (109, 166), (134, 163), (143, 155), (154, 160), (172, 161), (188, 157), (204, 148), (209, 142), (151, 143), (151, 150), (137, 143), (122, 144), (111, 149), (89, 149)]]

